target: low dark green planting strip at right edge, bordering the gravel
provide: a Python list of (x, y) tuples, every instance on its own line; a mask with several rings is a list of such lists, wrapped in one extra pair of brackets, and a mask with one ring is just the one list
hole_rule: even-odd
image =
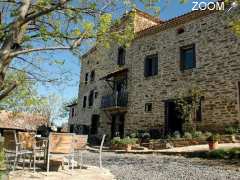
[(213, 159), (240, 159), (240, 148), (217, 149), (208, 153)]

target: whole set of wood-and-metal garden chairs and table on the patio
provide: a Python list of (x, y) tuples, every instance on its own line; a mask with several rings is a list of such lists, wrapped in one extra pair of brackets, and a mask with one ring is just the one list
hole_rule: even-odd
[[(4, 151), (9, 169), (13, 171), (18, 164), (22, 163), (25, 168), (25, 160), (29, 160), (29, 168), (36, 171), (36, 162), (49, 172), (50, 165), (54, 161), (61, 162), (62, 168), (67, 164), (68, 169), (82, 167), (83, 152), (87, 146), (87, 135), (76, 135), (74, 133), (50, 133), (48, 138), (40, 138), (33, 132), (16, 132), (7, 130), (3, 132)], [(105, 135), (103, 135), (100, 146), (101, 150)], [(41, 163), (40, 163), (41, 162)]]

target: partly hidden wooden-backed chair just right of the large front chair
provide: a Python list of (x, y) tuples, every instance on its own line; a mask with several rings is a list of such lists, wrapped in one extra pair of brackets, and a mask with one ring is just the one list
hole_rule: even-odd
[[(74, 136), (74, 157), (80, 162), (80, 168), (83, 165), (83, 151), (87, 147), (88, 135), (75, 135)], [(79, 160), (80, 158), (80, 160)]]

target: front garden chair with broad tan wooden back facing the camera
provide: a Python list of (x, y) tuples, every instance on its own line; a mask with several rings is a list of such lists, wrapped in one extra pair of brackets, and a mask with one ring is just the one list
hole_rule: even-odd
[(47, 172), (49, 172), (50, 158), (61, 158), (62, 166), (65, 158), (71, 159), (72, 162), (74, 161), (74, 135), (73, 133), (50, 133), (47, 153)]

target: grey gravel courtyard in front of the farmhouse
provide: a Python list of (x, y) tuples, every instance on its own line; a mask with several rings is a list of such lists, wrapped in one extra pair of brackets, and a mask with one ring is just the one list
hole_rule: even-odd
[[(84, 163), (98, 166), (98, 153), (84, 153)], [(190, 159), (166, 155), (103, 153), (103, 166), (119, 180), (240, 180), (240, 167), (226, 169)]]

